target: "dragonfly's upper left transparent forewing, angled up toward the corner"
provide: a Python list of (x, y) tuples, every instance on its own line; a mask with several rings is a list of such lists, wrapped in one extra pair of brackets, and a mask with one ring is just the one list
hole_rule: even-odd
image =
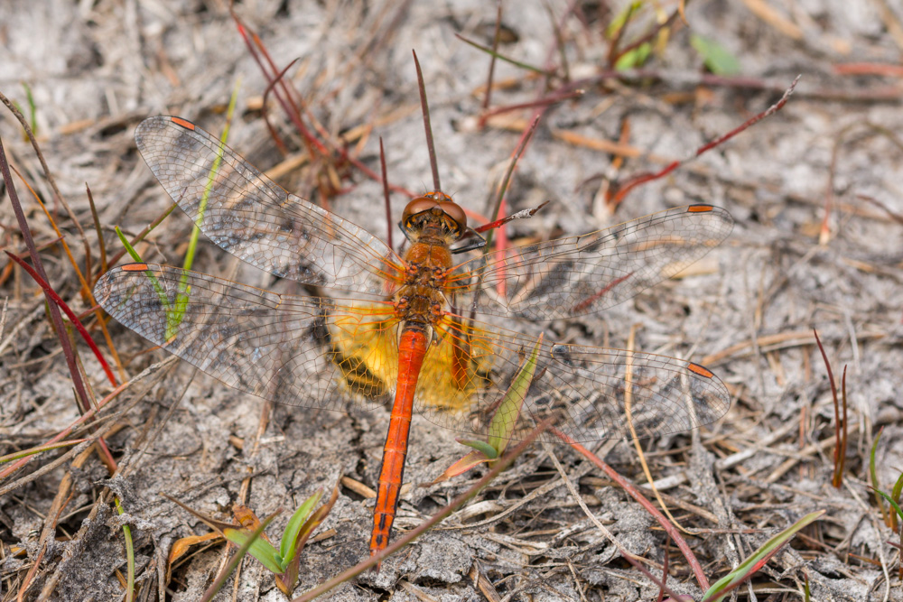
[(382, 295), (395, 254), (376, 236), (269, 181), (179, 117), (145, 119), (135, 142), (157, 180), (214, 243), (261, 270)]

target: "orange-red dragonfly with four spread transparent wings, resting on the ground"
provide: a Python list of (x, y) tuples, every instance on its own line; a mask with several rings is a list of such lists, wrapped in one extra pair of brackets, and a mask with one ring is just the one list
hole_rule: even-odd
[(399, 227), (409, 244), (396, 252), (287, 192), (190, 121), (150, 117), (135, 141), (210, 240), (330, 295), (279, 294), (135, 263), (103, 274), (96, 298), (121, 324), (247, 394), (340, 412), (391, 403), (371, 554), (389, 542), (413, 412), (486, 437), (527, 356), (535, 357), (535, 372), (512, 440), (546, 417), (588, 442), (626, 438), (628, 427), (639, 437), (686, 431), (730, 407), (725, 385), (694, 362), (508, 328), (511, 319), (532, 324), (606, 310), (674, 276), (731, 232), (722, 208), (671, 208), (580, 236), (478, 253), (468, 251), (473, 231), (461, 206), (433, 190), (405, 207)]

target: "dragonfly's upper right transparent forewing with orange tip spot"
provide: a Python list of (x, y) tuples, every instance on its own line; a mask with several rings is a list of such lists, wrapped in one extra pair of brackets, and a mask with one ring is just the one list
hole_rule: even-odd
[(579, 316), (626, 301), (684, 270), (719, 245), (731, 227), (733, 219), (722, 208), (668, 209), (472, 259), (461, 264), (449, 291), (462, 312), (530, 320)]

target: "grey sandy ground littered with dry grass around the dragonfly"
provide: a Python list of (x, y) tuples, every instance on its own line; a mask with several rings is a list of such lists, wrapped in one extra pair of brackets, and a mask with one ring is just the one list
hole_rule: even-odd
[[(721, 421), (693, 438), (644, 444), (675, 518), (695, 530), (686, 538), (711, 581), (772, 534), (824, 509), (824, 519), (778, 553), (740, 596), (803, 599), (808, 579), (814, 600), (903, 599), (899, 551), (890, 544), (898, 534), (885, 525), (867, 487), (870, 447), (882, 428), (878, 484), (889, 490), (903, 471), (903, 9), (890, 0), (693, 2), (686, 10), (690, 27), (672, 28), (643, 72), (617, 79), (600, 73), (608, 69), (610, 49), (604, 32), (621, 7), (577, 3), (575, 14), (570, 6), (505, 5), (511, 38), (499, 50), (557, 75), (546, 80), (499, 62), (491, 107), (554, 93), (564, 83), (563, 57), (568, 77), (585, 81), (582, 96), (545, 112), (508, 197), (512, 210), (552, 202), (509, 227), (508, 236), (526, 242), (582, 233), (693, 202), (728, 209), (736, 225), (685, 277), (604, 314), (555, 322), (547, 332), (569, 342), (623, 347), (637, 325), (637, 349), (692, 359), (728, 384), (732, 406)], [(674, 8), (663, 5), (664, 14)], [(535, 112), (509, 111), (478, 127), (489, 59), (455, 34), (489, 43), (493, 3), (251, 0), (236, 10), (279, 69), (297, 60), (287, 77), (331, 140), (344, 135), (349, 153), (378, 171), (381, 136), (390, 181), (422, 192), (432, 177), (411, 58), (416, 50), (433, 109), (442, 186), (466, 208), (490, 213), (493, 187)], [(240, 82), (229, 145), (262, 170), (305, 156), (271, 98), (287, 154), (267, 133), (260, 112), (265, 79), (224, 2), (5, 0), (0, 13), (0, 92), (27, 115), (23, 83), (30, 88), (42, 153), (87, 231), (95, 270), (99, 247), (86, 182), (109, 255), (121, 248), (114, 226), (135, 234), (171, 204), (135, 151), (135, 125), (144, 117), (183, 116), (219, 132)], [(654, 22), (644, 8), (622, 47)], [(708, 73), (694, 36), (720, 44), (740, 70)], [(616, 182), (689, 156), (775, 103), (797, 75), (796, 94), (777, 115), (633, 190), (617, 209), (606, 205), (605, 192)], [(78, 231), (54, 202), (8, 111), (0, 135), (24, 180), (57, 211), (62, 236), (83, 269)], [(293, 164), (277, 178), (286, 189), (328, 202), (385, 238), (377, 181), (342, 167), (342, 193), (324, 199), (324, 162)], [(61, 245), (51, 244), (59, 235), (23, 181), (15, 186), (36, 244), (45, 245), (52, 286), (75, 310), (87, 310)], [(393, 195), (394, 221), (407, 200)], [(27, 255), (7, 198), (0, 228), (0, 244)], [(190, 219), (174, 212), (142, 246), (144, 257), (180, 263), (190, 229)], [(397, 230), (394, 236), (397, 241)], [(201, 241), (196, 269), (297, 292)], [(7, 263), (0, 259), (0, 301), (8, 302), (0, 320), (0, 454), (42, 445), (79, 418), (39, 289)], [(96, 320), (83, 321), (102, 343)], [(265, 516), (293, 509), (317, 487), (330, 489), (345, 477), (321, 526), (326, 536), (304, 551), (296, 594), (366, 557), (373, 500), (361, 492), (377, 480), (386, 411), (347, 416), (271, 407), (182, 362), (159, 366), (167, 357), (162, 351), (136, 355), (146, 341), (115, 322), (109, 327), (127, 378), (157, 366), (100, 412), (105, 421), (98, 428), (116, 459), (116, 477), (83, 448), (68, 456), (48, 452), (0, 477), (0, 599), (15, 599), (25, 585), (25, 599), (124, 599), (123, 523), (134, 536), (137, 599), (199, 599), (229, 551), (221, 541), (192, 548), (170, 574), (173, 543), (209, 529), (162, 493), (229, 520), (238, 501)], [(814, 328), (838, 383), (847, 369), (849, 436), (840, 488), (830, 483), (833, 402)], [(107, 378), (87, 346), (79, 342), (78, 352), (86, 381), (103, 398), (111, 391)], [(413, 487), (396, 522), (402, 531), (485, 473), (423, 486), (464, 452), (452, 432), (420, 417), (412, 431), (405, 481)], [(602, 450), (622, 475), (646, 483), (631, 445)], [(621, 545), (647, 559), (656, 575), (667, 554), (668, 585), (702, 599), (686, 560), (673, 544), (666, 549), (664, 532), (649, 514), (572, 450), (556, 446), (552, 452)], [(280, 533), (287, 514), (275, 519), (272, 533)], [(440, 528), (330, 599), (631, 601), (655, 599), (657, 591), (599, 532), (548, 452), (535, 446)], [(284, 597), (268, 572), (246, 560), (217, 599)]]

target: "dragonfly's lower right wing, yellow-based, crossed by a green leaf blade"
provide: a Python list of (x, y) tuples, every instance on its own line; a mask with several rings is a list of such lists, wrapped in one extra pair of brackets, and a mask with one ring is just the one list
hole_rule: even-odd
[(452, 323), (427, 351), (416, 409), (453, 431), (488, 435), (491, 421), (506, 411), (499, 402), (537, 342), (535, 377), (514, 440), (549, 416), (578, 441), (627, 438), (630, 422), (645, 438), (708, 424), (731, 406), (721, 380), (693, 362), (538, 341), (474, 322), (464, 328)]

